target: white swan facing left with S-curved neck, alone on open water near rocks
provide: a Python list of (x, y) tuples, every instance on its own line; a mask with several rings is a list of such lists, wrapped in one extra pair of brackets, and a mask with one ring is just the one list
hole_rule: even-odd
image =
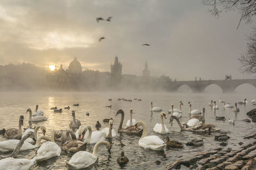
[(147, 125), (143, 121), (138, 121), (134, 125), (134, 129), (139, 126), (143, 127), (141, 138), (139, 139), (139, 146), (148, 148), (150, 150), (164, 150), (166, 144), (158, 136), (147, 136)]

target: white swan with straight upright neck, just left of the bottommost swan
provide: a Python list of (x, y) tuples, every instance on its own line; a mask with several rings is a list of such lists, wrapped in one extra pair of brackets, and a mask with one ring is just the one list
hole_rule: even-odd
[(41, 162), (52, 157), (59, 157), (61, 148), (55, 143), (55, 131), (51, 131), (51, 141), (43, 143), (37, 150), (36, 162)]

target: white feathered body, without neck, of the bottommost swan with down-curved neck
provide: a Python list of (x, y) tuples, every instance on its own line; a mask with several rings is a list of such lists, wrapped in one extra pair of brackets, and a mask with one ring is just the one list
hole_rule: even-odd
[(97, 160), (90, 152), (79, 151), (75, 153), (72, 158), (68, 161), (68, 164), (76, 167), (77, 169), (86, 168), (94, 164)]

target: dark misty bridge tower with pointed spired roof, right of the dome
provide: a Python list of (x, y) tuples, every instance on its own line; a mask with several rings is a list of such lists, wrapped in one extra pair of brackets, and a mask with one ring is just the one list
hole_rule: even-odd
[(122, 64), (118, 62), (118, 57), (115, 57), (114, 64), (111, 64), (110, 78), (111, 83), (118, 83), (122, 80)]

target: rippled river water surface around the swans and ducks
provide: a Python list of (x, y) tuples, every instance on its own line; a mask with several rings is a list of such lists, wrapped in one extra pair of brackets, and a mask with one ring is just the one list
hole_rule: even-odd
[[(81, 121), (82, 125), (90, 125), (95, 131), (95, 123), (100, 121), (102, 127), (108, 127), (108, 124), (103, 124), (103, 118), (113, 118), (114, 129), (117, 132), (118, 124), (120, 122), (120, 115), (115, 117), (116, 111), (119, 109), (124, 110), (126, 124), (129, 119), (129, 110), (133, 109), (133, 118), (143, 120), (147, 124), (148, 135), (157, 135), (159, 138), (164, 139), (169, 136), (170, 139), (178, 140), (184, 143), (183, 149), (164, 149), (164, 152), (156, 152), (147, 150), (138, 146), (140, 137), (129, 136), (127, 134), (117, 134), (116, 138), (113, 138), (111, 155), (104, 146), (99, 148), (99, 161), (92, 167), (92, 169), (118, 169), (120, 166), (116, 163), (116, 159), (119, 157), (120, 152), (124, 151), (125, 155), (129, 158), (129, 163), (124, 166), (124, 169), (164, 169), (166, 165), (172, 163), (175, 160), (185, 157), (192, 157), (196, 152), (202, 152), (216, 148), (220, 142), (214, 141), (214, 134), (193, 134), (192, 132), (180, 132), (179, 126), (176, 122), (173, 126), (169, 124), (168, 119), (164, 120), (164, 123), (168, 126), (170, 132), (166, 135), (156, 134), (153, 132), (153, 127), (156, 123), (160, 123), (159, 112), (150, 112), (150, 101), (154, 106), (161, 107), (164, 111), (170, 110), (170, 105), (174, 104), (174, 108), (179, 108), (179, 101), (183, 101), (182, 118), (180, 122), (187, 122), (188, 115), (188, 102), (192, 103), (192, 108), (205, 107), (205, 120), (207, 124), (214, 124), (217, 128), (221, 128), (221, 131), (228, 132), (230, 139), (228, 140), (228, 146), (236, 148), (239, 147), (239, 142), (250, 143), (250, 139), (243, 139), (243, 136), (255, 131), (255, 123), (246, 123), (241, 120), (246, 117), (246, 111), (255, 108), (250, 101), (253, 98), (253, 94), (186, 94), (186, 93), (161, 93), (161, 94), (140, 94), (140, 93), (83, 93), (83, 92), (1, 92), (0, 93), (0, 128), (8, 129), (10, 127), (18, 127), (19, 116), (24, 115), (24, 127), (28, 127), (29, 114), (26, 113), (28, 108), (35, 110), (36, 104), (39, 104), (39, 110), (44, 111), (44, 115), (48, 117), (44, 124), (47, 128), (46, 135), (50, 137), (51, 129), (68, 129), (70, 121), (72, 120), (71, 111), (76, 111), (76, 118)], [(118, 98), (127, 99), (142, 99), (142, 101), (118, 101)], [(226, 103), (232, 103), (237, 101), (243, 101), (244, 97), (248, 99), (246, 106), (240, 105), (240, 112), (234, 113), (232, 110), (226, 108), (226, 110), (217, 110), (216, 113), (211, 110), (207, 103), (212, 100), (216, 100), (220, 106), (219, 99), (222, 97)], [(111, 98), (112, 101), (108, 101)], [(72, 106), (75, 103), (79, 103), (78, 107)], [(112, 108), (106, 108), (105, 106), (112, 105)], [(53, 113), (50, 108), (57, 106), (58, 108), (64, 108), (70, 106), (70, 110), (64, 110), (62, 113)], [(86, 116), (86, 112), (90, 113), (90, 116)], [(168, 115), (168, 114), (167, 114)], [(225, 116), (228, 118), (234, 118), (235, 124), (229, 124), (225, 122), (216, 121), (215, 115)], [(34, 125), (33, 125), (34, 126)], [(205, 139), (204, 146), (191, 147), (186, 146), (185, 143), (193, 138)], [(4, 140), (0, 137), (0, 140)], [(92, 152), (93, 145), (88, 145), (88, 151)], [(31, 159), (35, 157), (36, 150), (20, 152), (19, 158)], [(32, 169), (67, 169), (65, 162), (70, 160), (72, 155), (62, 152), (60, 157), (50, 159), (47, 162), (41, 164), (35, 164)], [(160, 160), (161, 164), (156, 165), (155, 160)]]

